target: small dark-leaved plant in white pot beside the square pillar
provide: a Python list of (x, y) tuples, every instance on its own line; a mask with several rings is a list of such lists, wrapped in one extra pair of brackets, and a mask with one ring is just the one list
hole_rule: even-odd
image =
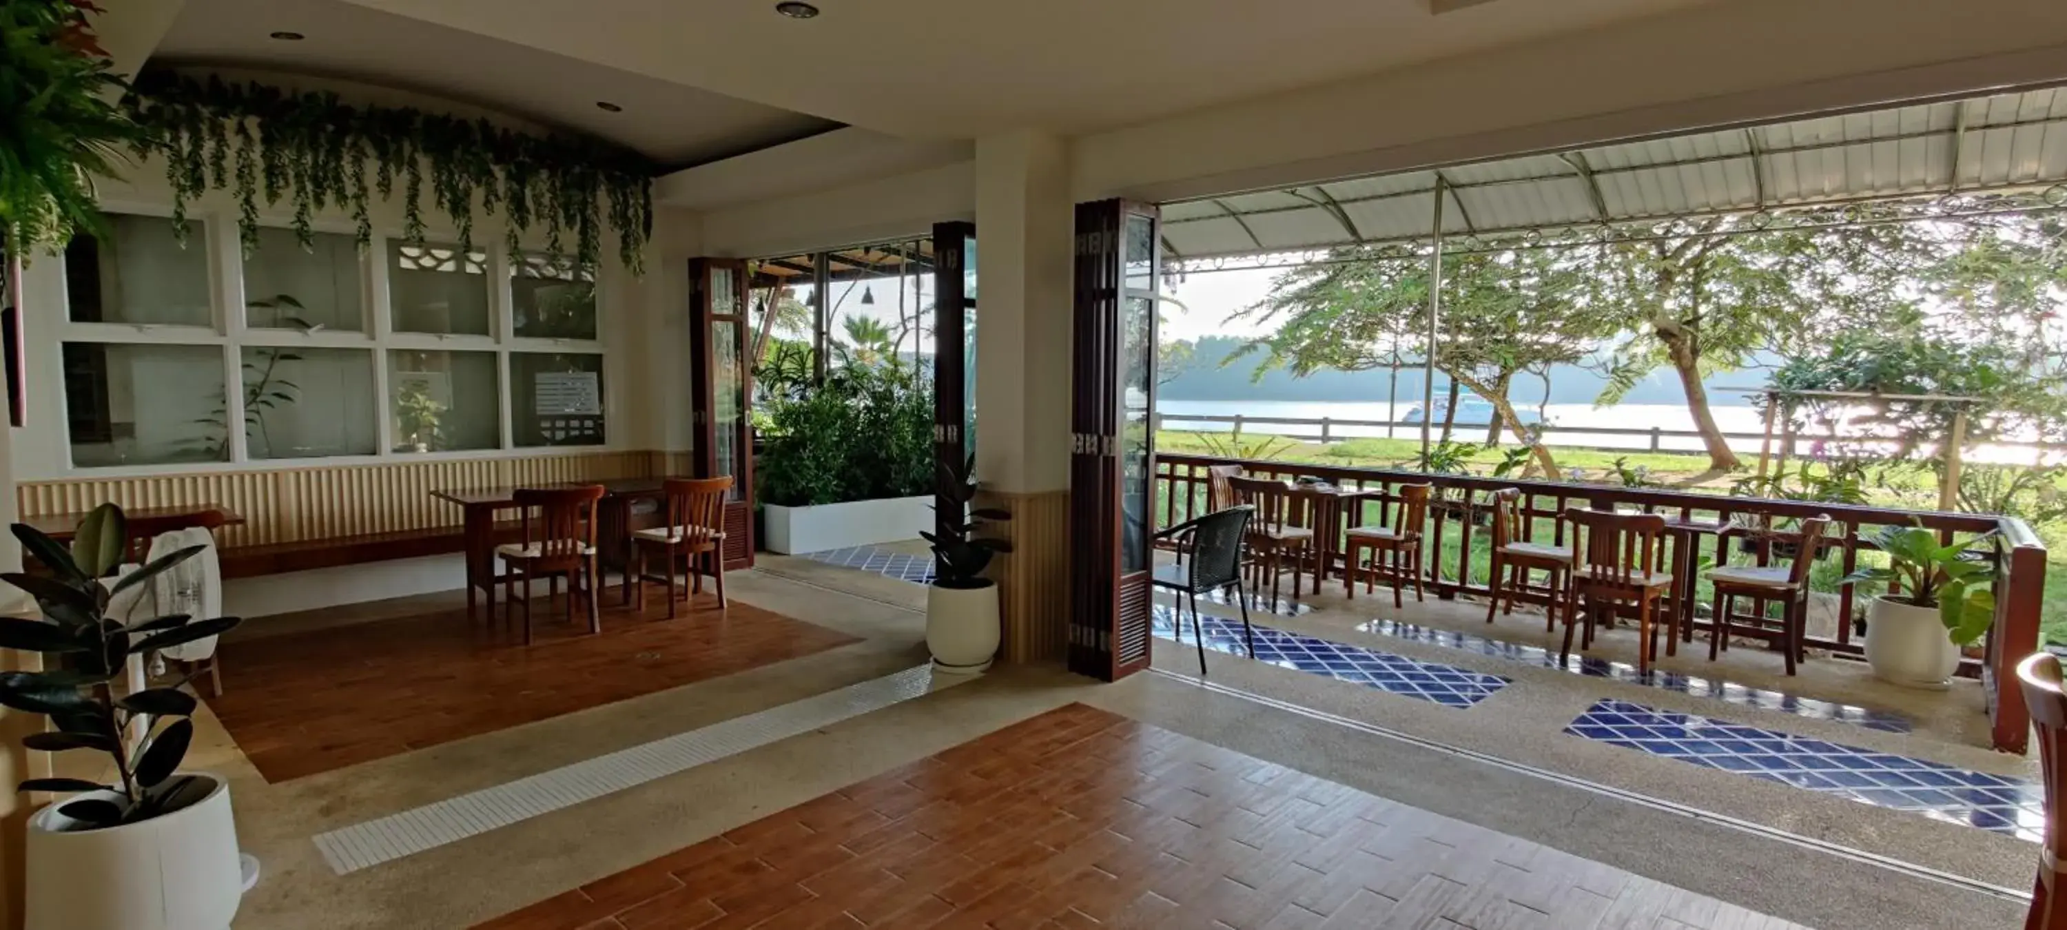
[(945, 510), (936, 513), (934, 531), (920, 533), (932, 544), (934, 579), (926, 589), (926, 649), (932, 651), (932, 665), (940, 672), (971, 674), (990, 668), (998, 653), (998, 587), (984, 577), (990, 558), (1011, 552), (1009, 539), (976, 535), (986, 523), (1000, 523), (1013, 515), (969, 504), (976, 500), (976, 482), (969, 479), (974, 461), (959, 469), (938, 465), (940, 500)]

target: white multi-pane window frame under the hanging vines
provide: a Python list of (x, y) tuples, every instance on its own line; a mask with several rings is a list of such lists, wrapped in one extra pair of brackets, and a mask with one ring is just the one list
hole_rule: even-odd
[[(105, 198), (101, 203), (103, 213), (128, 213), (141, 217), (172, 217), (172, 209), (163, 203), (141, 203), (141, 200), (116, 200)], [(64, 343), (110, 343), (110, 345), (215, 345), (221, 347), (223, 358), (223, 397), (225, 397), (225, 422), (244, 424), (244, 349), (296, 349), (296, 347), (329, 347), (329, 349), (360, 349), (372, 353), (374, 370), (374, 411), (376, 411), (376, 451), (374, 455), (333, 455), (333, 457), (310, 457), (310, 459), (252, 459), (246, 444), (242, 428), (227, 430), (229, 461), (200, 461), (200, 463), (161, 463), (161, 465), (76, 465), (72, 461), (70, 428), (66, 424), (66, 411), (70, 409), (70, 399), (64, 397), (64, 374), (62, 364), (50, 366), (50, 391), (56, 397), (54, 411), (58, 417), (50, 422), (52, 440), (64, 451), (62, 475), (58, 477), (141, 477), (141, 475), (172, 475), (172, 473), (196, 473), (196, 471), (275, 471), (275, 469), (296, 469), (296, 467), (339, 467), (339, 465), (382, 465), (382, 463), (407, 463), (407, 461), (467, 461), (467, 459), (523, 459), (523, 457), (550, 457), (568, 453), (610, 453), (622, 451), (624, 424), (612, 428), (614, 413), (618, 411), (612, 393), (616, 378), (610, 378), (612, 358), (606, 351), (610, 343), (610, 314), (604, 312), (608, 293), (604, 269), (595, 269), (595, 339), (517, 339), (513, 324), (513, 291), (511, 281), (515, 269), (508, 256), (500, 248), (502, 234), (494, 229), (475, 229), (477, 242), (475, 250), (488, 254), (486, 285), (488, 285), (488, 335), (438, 335), (438, 333), (397, 333), (393, 327), (393, 306), (389, 300), (389, 242), (401, 240), (399, 227), (374, 227), (372, 242), (360, 252), (360, 312), (362, 312), (362, 333), (343, 331), (320, 331), (320, 333), (298, 333), (291, 329), (252, 329), (246, 324), (244, 306), (244, 252), (238, 240), (238, 223), (234, 213), (225, 211), (188, 211), (188, 219), (194, 221), (192, 236), (188, 238), (188, 248), (205, 248), (209, 262), (209, 304), (211, 304), (211, 324), (209, 327), (184, 327), (184, 324), (134, 324), (134, 322), (74, 322), (70, 318), (70, 293), (64, 287), (66, 275), (54, 275), (58, 287), (54, 314), (58, 324), (41, 339), (41, 351), (52, 358), (62, 355)], [(267, 227), (291, 227), (291, 217), (281, 213), (263, 211), (258, 217), (260, 225)], [(347, 219), (320, 217), (310, 221), (310, 229), (325, 234), (353, 236), (356, 225)], [(453, 229), (426, 229), (424, 238), (428, 242), (457, 242), (459, 234)], [(531, 250), (544, 252), (544, 250)], [(64, 258), (52, 258), (62, 265)], [(461, 448), (442, 453), (401, 453), (395, 451), (395, 413), (391, 397), (391, 372), (389, 372), (389, 351), (391, 349), (413, 349), (413, 351), (490, 351), (496, 358), (496, 430), (498, 444), (494, 448)], [(515, 411), (511, 409), (513, 384), (511, 384), (511, 353), (513, 351), (546, 351), (546, 353), (570, 353), (570, 355), (597, 355), (597, 364), (604, 370), (604, 444), (595, 446), (517, 446)]]

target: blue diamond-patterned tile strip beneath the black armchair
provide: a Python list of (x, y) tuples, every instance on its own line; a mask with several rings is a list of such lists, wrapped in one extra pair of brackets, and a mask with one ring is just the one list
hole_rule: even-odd
[[(1158, 603), (1153, 620), (1155, 637), (1186, 647), (1195, 645), (1197, 632), (1191, 626), (1191, 612), (1184, 612), (1184, 628), (1191, 630), (1193, 639), (1178, 634), (1176, 618), (1178, 614), (1174, 608)], [(1203, 614), (1201, 622), (1205, 624), (1205, 647), (1209, 651), (1248, 655), (1240, 620)], [(1253, 630), (1257, 661), (1329, 676), (1341, 682), (1364, 684), (1389, 694), (1434, 701), (1445, 707), (1472, 707), (1511, 682), (1509, 678), (1488, 676), (1463, 668), (1439, 665), (1432, 661), (1410, 659), (1406, 655), (1381, 653), (1315, 637), (1300, 637), (1275, 626), (1253, 624)]]

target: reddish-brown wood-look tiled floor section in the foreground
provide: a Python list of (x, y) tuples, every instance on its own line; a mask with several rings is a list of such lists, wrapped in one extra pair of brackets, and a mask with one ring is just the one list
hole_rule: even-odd
[(1071, 705), (482, 926), (1792, 924)]

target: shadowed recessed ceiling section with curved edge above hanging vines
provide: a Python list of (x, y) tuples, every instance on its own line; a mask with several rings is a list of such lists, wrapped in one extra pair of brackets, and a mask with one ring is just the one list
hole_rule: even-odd
[[(271, 39), (275, 31), (306, 39)], [(835, 126), (341, 0), (186, 0), (151, 64), (291, 70), (418, 91), (597, 134), (664, 165), (713, 161)], [(624, 112), (597, 110), (599, 99)]]

